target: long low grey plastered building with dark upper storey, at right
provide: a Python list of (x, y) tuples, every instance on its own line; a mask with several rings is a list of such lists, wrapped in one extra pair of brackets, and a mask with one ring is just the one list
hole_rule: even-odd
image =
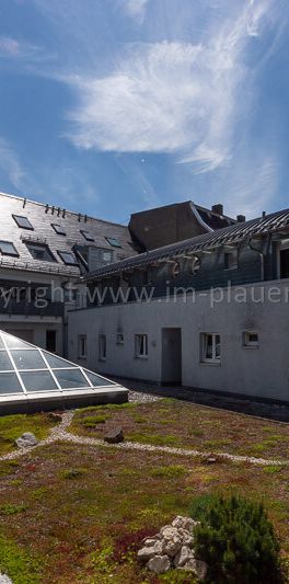
[(289, 209), (229, 222), (204, 221), (203, 233), (154, 249), (142, 216), (152, 249), (84, 277), (88, 307), (68, 314), (70, 358), (101, 374), (288, 402)]

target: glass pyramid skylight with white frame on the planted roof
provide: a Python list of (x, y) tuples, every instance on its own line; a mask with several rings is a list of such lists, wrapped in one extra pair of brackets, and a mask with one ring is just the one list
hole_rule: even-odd
[(0, 414), (8, 403), (127, 401), (127, 389), (74, 363), (0, 331)]

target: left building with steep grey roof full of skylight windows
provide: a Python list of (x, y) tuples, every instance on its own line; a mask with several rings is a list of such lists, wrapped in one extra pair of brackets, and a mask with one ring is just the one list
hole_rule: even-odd
[(127, 227), (0, 193), (0, 328), (67, 354), (79, 278), (137, 253)]

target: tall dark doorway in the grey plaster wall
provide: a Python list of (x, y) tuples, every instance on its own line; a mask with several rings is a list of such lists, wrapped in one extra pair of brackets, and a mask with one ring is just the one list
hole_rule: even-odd
[(162, 329), (162, 383), (182, 385), (182, 329)]

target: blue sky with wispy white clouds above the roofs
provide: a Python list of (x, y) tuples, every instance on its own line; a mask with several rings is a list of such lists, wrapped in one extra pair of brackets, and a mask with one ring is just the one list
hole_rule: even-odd
[(0, 0), (0, 191), (127, 224), (289, 207), (286, 0)]

